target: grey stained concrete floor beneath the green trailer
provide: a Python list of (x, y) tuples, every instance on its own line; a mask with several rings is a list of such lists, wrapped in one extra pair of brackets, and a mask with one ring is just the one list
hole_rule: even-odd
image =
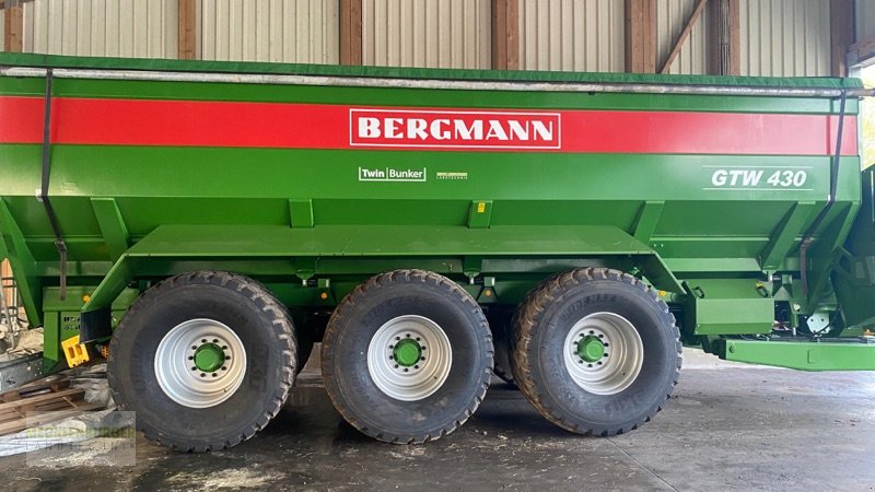
[(5, 490), (848, 490), (875, 488), (875, 374), (807, 374), (687, 351), (666, 409), (641, 430), (580, 437), (494, 384), (454, 434), (371, 441), (342, 422), (315, 374), (261, 434), (231, 450), (173, 454), (139, 437), (132, 468), (25, 466)]

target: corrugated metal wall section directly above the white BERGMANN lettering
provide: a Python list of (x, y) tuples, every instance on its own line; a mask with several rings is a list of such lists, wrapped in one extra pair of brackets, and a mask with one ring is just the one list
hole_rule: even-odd
[(490, 0), (363, 0), (364, 65), (490, 68)]

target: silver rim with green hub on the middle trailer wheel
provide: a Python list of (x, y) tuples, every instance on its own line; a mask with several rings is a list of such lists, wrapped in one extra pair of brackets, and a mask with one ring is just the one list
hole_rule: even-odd
[(368, 347), (371, 379), (396, 400), (416, 401), (433, 395), (452, 365), (450, 339), (440, 325), (422, 316), (386, 321)]

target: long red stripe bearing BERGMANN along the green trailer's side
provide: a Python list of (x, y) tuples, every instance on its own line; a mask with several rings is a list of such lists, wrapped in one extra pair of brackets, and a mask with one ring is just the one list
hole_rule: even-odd
[[(381, 121), (378, 137), (374, 121), (360, 128), (362, 115)], [(481, 129), (477, 120), (482, 121)], [(513, 128), (511, 120), (516, 122)], [(826, 115), (56, 97), (51, 140), (104, 145), (828, 155), (835, 152), (837, 127), (838, 117)], [(42, 140), (43, 98), (0, 97), (0, 142)], [(858, 154), (854, 116), (845, 117), (842, 153)]]

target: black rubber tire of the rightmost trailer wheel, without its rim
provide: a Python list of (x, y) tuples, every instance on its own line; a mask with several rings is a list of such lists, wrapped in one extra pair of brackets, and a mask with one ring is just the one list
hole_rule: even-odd
[[(593, 313), (623, 317), (643, 344), (638, 376), (616, 394), (585, 390), (563, 362), (565, 337)], [(662, 409), (680, 373), (679, 337), (668, 306), (640, 280), (606, 268), (576, 269), (548, 279), (520, 305), (511, 364), (520, 389), (541, 415), (571, 432), (616, 435)]]

